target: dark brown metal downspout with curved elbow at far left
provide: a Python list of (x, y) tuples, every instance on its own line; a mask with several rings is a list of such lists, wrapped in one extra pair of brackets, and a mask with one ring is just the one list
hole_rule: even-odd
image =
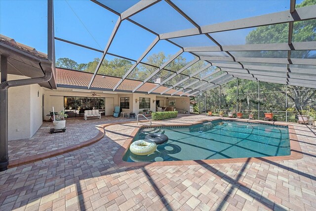
[[(4, 56), (1, 56), (1, 60)], [(1, 64), (1, 76), (7, 75), (7, 68), (2, 68)], [(21, 79), (13, 81), (4, 81), (0, 84), (0, 171), (7, 169), (9, 164), (8, 157), (8, 88), (12, 86), (39, 84), (48, 82), (52, 77), (52, 73), (45, 72), (45, 75), (40, 78)], [(2, 80), (2, 77), (1, 77)]]

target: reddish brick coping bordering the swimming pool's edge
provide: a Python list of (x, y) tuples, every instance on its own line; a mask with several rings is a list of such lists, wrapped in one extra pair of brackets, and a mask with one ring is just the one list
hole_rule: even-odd
[[(275, 161), (284, 161), (284, 160), (298, 160), (298, 159), (303, 158), (302, 149), (296, 135), (296, 130), (294, 129), (294, 126), (289, 125), (288, 123), (266, 122), (266, 121), (261, 121), (261, 120), (246, 120), (246, 119), (234, 119), (234, 118), (216, 118), (216, 119), (211, 119), (211, 120), (198, 121), (195, 124), (172, 124), (172, 125), (164, 125), (164, 126), (165, 127), (194, 126), (194, 125), (201, 124), (203, 122), (211, 122), (215, 120), (231, 120), (235, 122), (249, 122), (249, 123), (258, 123), (258, 124), (264, 123), (267, 125), (286, 126), (288, 127), (288, 130), (289, 130), (291, 154), (287, 156), (229, 158), (229, 159), (212, 159), (212, 160), (189, 160), (189, 161), (158, 161), (158, 162), (125, 162), (123, 161), (123, 156), (128, 150), (137, 132), (143, 127), (149, 127), (149, 126), (142, 126), (142, 127), (135, 128), (133, 132), (129, 134), (130, 136), (133, 136), (133, 137), (125, 140), (124, 144), (118, 149), (117, 153), (113, 157), (113, 161), (119, 167), (145, 167), (145, 166), (158, 167), (158, 166), (184, 166), (184, 165), (197, 165), (197, 164), (200, 165), (200, 164), (225, 164), (225, 163), (261, 163), (261, 162), (275, 162)], [(155, 125), (151, 127), (155, 127)]]

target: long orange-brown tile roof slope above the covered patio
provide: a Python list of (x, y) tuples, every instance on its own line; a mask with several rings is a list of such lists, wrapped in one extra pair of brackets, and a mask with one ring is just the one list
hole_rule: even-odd
[[(73, 86), (88, 86), (92, 77), (92, 73), (87, 73), (83, 71), (75, 71), (68, 69), (56, 68), (56, 82), (57, 84), (63, 85), (73, 85)], [(113, 89), (114, 86), (118, 83), (120, 78), (112, 76), (103, 76), (96, 75), (91, 87), (93, 88), (106, 88)], [(125, 79), (123, 83), (118, 86), (118, 90), (132, 91), (137, 85), (141, 84), (140, 81), (134, 81)], [(148, 92), (154, 88), (157, 84), (154, 83), (145, 83), (137, 89), (138, 92)], [(168, 87), (160, 86), (153, 91), (153, 94), (160, 93), (166, 90)], [(171, 94), (175, 92), (175, 89), (170, 89), (166, 94)], [(178, 94), (181, 94), (179, 92)]]

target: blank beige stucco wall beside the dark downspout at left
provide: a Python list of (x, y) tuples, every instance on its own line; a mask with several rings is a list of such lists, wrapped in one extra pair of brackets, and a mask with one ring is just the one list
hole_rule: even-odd
[[(27, 77), (8, 75), (8, 81), (20, 79), (27, 79)], [(8, 140), (31, 138), (40, 128), (42, 94), (43, 88), (38, 84), (8, 89)]]

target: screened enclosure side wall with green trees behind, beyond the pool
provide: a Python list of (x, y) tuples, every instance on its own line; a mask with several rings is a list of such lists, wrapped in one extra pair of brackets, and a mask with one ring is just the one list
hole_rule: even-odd
[(297, 116), (286, 109), (316, 109), (316, 89), (235, 79), (196, 96), (194, 101), (195, 112), (203, 113), (206, 109), (217, 114), (223, 110), (227, 116), (228, 112), (238, 111), (248, 118), (251, 111), (254, 119), (263, 119), (264, 113), (272, 111), (277, 121), (296, 122)]

